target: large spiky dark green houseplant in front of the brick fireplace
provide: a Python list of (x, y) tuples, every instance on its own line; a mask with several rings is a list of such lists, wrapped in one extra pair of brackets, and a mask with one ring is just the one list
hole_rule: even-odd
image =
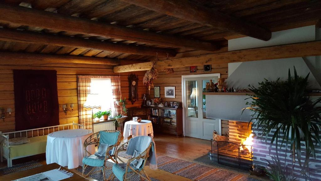
[[(292, 162), (298, 160), (302, 169), (308, 167), (309, 156), (316, 157), (314, 142), (321, 145), (321, 107), (317, 106), (321, 98), (309, 98), (306, 89), (308, 76), (299, 77), (294, 67), (294, 77), (291, 77), (289, 69), (287, 81), (265, 80), (259, 83), (258, 88), (249, 85), (254, 95), (250, 96), (252, 101), (247, 102), (249, 107), (245, 108), (253, 111), (252, 129), (260, 130), (265, 141), (268, 135), (272, 135), (271, 143), (275, 142), (276, 148), (279, 143), (280, 148), (282, 144), (286, 147), (291, 145)], [(308, 155), (302, 158), (304, 163), (301, 162), (301, 141), (306, 145), (305, 152)]]

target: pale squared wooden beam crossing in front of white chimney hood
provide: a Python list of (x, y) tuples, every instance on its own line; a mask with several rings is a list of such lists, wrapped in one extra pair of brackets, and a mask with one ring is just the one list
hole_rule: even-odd
[[(321, 55), (320, 40), (163, 60), (156, 62), (155, 68), (160, 70), (163, 68), (189, 67), (195, 65), (202, 66), (214, 63), (248, 62), (318, 55)], [(115, 66), (114, 72), (146, 71), (151, 69), (151, 67), (151, 62), (135, 63)]]

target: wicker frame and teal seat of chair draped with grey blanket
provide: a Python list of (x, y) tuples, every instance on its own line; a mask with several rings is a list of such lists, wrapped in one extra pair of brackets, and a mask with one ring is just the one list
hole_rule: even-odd
[[(128, 181), (128, 180), (130, 180), (130, 178), (132, 176), (137, 174), (140, 178), (151, 181), (151, 179), (147, 175), (144, 168), (145, 168), (147, 158), (149, 157), (150, 149), (152, 148), (152, 144), (153, 144), (152, 142), (149, 143), (148, 145), (146, 145), (147, 148), (141, 154), (139, 154), (136, 157), (130, 158), (126, 163), (118, 157), (119, 152), (123, 152), (123, 151), (127, 150), (128, 143), (131, 140), (132, 139), (130, 139), (129, 141), (127, 141), (123, 145), (119, 146), (119, 148), (117, 149), (116, 154), (115, 154), (116, 155), (116, 163), (113, 166), (113, 172), (110, 174), (110, 177), (112, 180), (114, 180), (114, 178), (116, 176), (120, 181)], [(135, 159), (139, 160), (141, 158), (143, 159), (143, 164), (139, 168), (136, 168), (133, 165), (131, 165), (132, 161), (134, 161)], [(122, 163), (118, 163), (117, 159), (119, 159)], [(142, 171), (146, 177), (141, 175)], [(117, 172), (117, 173), (115, 173), (115, 172)]]

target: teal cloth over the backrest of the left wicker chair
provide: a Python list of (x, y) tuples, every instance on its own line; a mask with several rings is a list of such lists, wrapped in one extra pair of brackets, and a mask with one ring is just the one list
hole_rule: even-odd
[[(105, 143), (108, 145), (115, 145), (117, 141), (120, 142), (121, 133), (118, 130), (104, 130), (99, 131), (99, 145), (100, 143)], [(98, 146), (99, 147), (99, 146)]]

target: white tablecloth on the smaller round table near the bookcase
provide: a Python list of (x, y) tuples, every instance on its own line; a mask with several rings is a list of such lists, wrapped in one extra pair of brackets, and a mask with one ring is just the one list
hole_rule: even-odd
[(126, 142), (128, 137), (132, 135), (135, 136), (148, 136), (154, 137), (152, 122), (149, 120), (142, 120), (141, 122), (127, 121), (124, 126), (124, 142)]

